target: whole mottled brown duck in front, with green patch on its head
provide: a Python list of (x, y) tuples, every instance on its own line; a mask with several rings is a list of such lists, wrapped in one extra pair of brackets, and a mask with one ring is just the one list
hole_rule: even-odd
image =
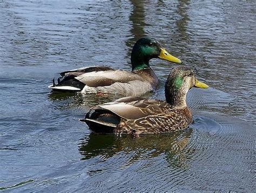
[(185, 66), (174, 68), (165, 83), (165, 99), (126, 96), (113, 102), (92, 107), (85, 122), (96, 133), (157, 134), (183, 130), (192, 122), (186, 104), (192, 87), (208, 88)]

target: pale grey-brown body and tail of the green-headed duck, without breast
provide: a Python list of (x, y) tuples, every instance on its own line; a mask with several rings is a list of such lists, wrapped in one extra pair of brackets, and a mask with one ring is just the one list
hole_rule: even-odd
[[(140, 75), (123, 70), (114, 70), (106, 66), (79, 68), (60, 73), (57, 84), (54, 79), (49, 86), (53, 91), (82, 91), (85, 93), (126, 93), (134, 90), (133, 85), (146, 82)], [(132, 82), (136, 81), (136, 82)], [(132, 86), (131, 86), (132, 84)], [(151, 85), (147, 82), (144, 87), (147, 91)], [(136, 93), (136, 91), (133, 91)], [(145, 92), (144, 92), (145, 93)]]

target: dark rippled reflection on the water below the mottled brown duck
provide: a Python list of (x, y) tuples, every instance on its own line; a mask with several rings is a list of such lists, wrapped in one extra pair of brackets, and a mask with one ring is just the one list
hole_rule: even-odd
[[(186, 164), (187, 155), (184, 148), (190, 141), (192, 129), (168, 134), (148, 134), (133, 137), (116, 134), (90, 133), (78, 144), (82, 160), (99, 156), (107, 160), (118, 154), (129, 154), (127, 164), (132, 164), (145, 158), (164, 154), (171, 166)], [(130, 155), (132, 154), (132, 155)]]

